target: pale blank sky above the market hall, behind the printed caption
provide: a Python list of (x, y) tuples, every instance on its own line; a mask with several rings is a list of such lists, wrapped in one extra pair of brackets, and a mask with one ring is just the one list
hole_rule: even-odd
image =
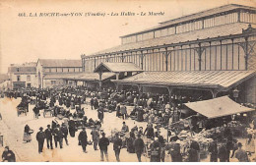
[[(121, 43), (120, 35), (227, 3), (256, 6), (255, 0), (0, 0), (0, 73), (10, 64), (38, 58), (80, 59)], [(41, 12), (164, 12), (164, 16), (21, 18)]]

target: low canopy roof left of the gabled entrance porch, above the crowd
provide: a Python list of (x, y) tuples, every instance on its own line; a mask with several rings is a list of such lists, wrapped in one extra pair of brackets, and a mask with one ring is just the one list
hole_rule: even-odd
[[(113, 73), (103, 73), (102, 81), (105, 81), (113, 76), (115, 76), (115, 74)], [(98, 82), (99, 76), (97, 73), (51, 74), (51, 75), (46, 75), (43, 79), (44, 80)]]

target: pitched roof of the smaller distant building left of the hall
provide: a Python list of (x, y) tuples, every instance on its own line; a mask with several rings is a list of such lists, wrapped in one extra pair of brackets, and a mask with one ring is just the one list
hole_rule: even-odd
[(42, 67), (81, 67), (81, 60), (67, 60), (67, 59), (38, 59)]

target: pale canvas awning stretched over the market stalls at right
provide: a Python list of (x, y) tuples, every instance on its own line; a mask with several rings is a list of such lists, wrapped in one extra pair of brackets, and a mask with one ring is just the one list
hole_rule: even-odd
[(185, 103), (185, 105), (209, 119), (255, 110), (234, 102), (228, 96), (222, 96), (204, 101), (189, 102)]

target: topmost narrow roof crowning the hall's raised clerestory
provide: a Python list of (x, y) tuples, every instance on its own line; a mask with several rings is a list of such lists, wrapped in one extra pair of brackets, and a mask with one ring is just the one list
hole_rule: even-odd
[(168, 21), (160, 23), (159, 26), (150, 27), (150, 28), (147, 28), (147, 29), (144, 29), (144, 30), (141, 30), (141, 31), (129, 33), (129, 34), (123, 35), (121, 37), (126, 37), (126, 36), (130, 36), (130, 35), (134, 35), (134, 34), (144, 33), (144, 32), (156, 30), (156, 29), (159, 29), (159, 28), (162, 28), (162, 27), (171, 27), (171, 26), (174, 26), (174, 25), (177, 25), (177, 24), (182, 24), (184, 22), (194, 21), (196, 19), (201, 19), (201, 18), (213, 16), (213, 15), (218, 15), (218, 14), (228, 12), (228, 11), (232, 11), (232, 10), (236, 10), (236, 9), (247, 9), (247, 10), (253, 10), (253, 11), (256, 10), (256, 8), (249, 7), (249, 6), (243, 6), (243, 5), (237, 5), (237, 4), (228, 4), (228, 5), (220, 6), (220, 7), (217, 7), (217, 8), (205, 10), (205, 11), (202, 11), (202, 12), (194, 13), (194, 14), (191, 14), (191, 15), (179, 17), (177, 19), (168, 20)]

